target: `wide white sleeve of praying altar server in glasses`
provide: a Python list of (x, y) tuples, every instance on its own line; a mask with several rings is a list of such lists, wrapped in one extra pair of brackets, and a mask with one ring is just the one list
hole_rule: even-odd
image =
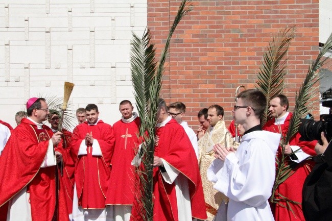
[(229, 199), (257, 207), (271, 196), (275, 156), (263, 140), (248, 144), (244, 153), (241, 165), (234, 153), (227, 155), (214, 188)]

